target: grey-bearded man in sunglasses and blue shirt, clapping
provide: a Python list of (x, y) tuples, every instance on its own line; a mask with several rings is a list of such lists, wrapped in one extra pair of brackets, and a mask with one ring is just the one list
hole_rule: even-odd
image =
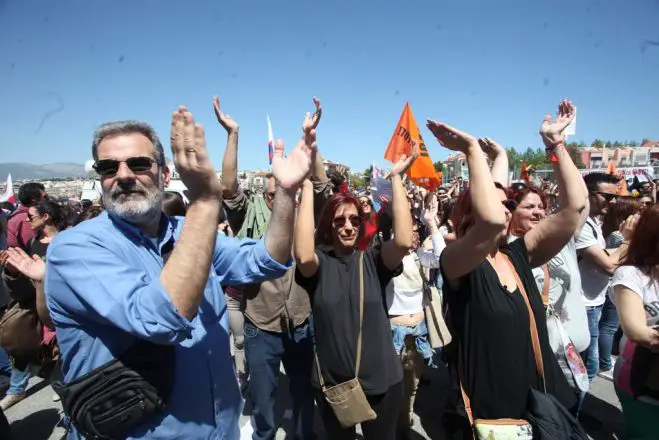
[[(173, 347), (171, 362), (151, 359), (158, 369), (174, 370), (169, 395), (162, 393), (164, 408), (142, 418), (127, 414), (119, 424), (129, 420), (130, 426), (120, 434), (107, 417), (96, 414), (94, 420), (106, 420), (112, 438), (237, 439), (242, 400), (220, 285), (279, 278), (290, 267), (295, 194), (315, 160), (315, 130), (307, 130), (286, 159), (278, 142), (272, 217), (261, 240), (217, 234), (221, 185), (204, 130), (185, 107), (172, 115), (171, 147), (190, 194), (185, 218), (161, 212), (170, 172), (148, 124), (104, 124), (94, 136), (94, 168), (106, 212), (59, 234), (47, 258), (45, 291), (63, 383), (80, 383), (81, 376), (123, 360), (144, 341), (148, 347)], [(66, 410), (66, 398), (63, 404)], [(123, 411), (109, 405), (110, 413)], [(69, 438), (90, 432), (71, 419)]]

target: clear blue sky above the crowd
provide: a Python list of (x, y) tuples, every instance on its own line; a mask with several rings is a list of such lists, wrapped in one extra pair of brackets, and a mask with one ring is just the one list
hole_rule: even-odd
[[(219, 169), (212, 97), (241, 125), (239, 167), (267, 168), (321, 98), (323, 155), (363, 170), (409, 101), (518, 149), (563, 97), (576, 140), (659, 137), (659, 1), (0, 0), (0, 162), (91, 157), (94, 128), (142, 119), (168, 146), (187, 105)], [(433, 160), (449, 153), (423, 128)], [(168, 152), (169, 153), (169, 152)]]

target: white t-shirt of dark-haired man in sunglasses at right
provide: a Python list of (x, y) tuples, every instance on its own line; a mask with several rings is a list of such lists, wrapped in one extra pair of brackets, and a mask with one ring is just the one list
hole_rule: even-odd
[[(602, 223), (588, 217), (577, 239), (576, 248), (580, 250), (592, 246), (606, 249), (606, 242), (602, 234)], [(611, 281), (609, 274), (585, 258), (579, 261), (579, 272), (581, 272), (581, 295), (584, 305), (592, 307), (604, 304)]]

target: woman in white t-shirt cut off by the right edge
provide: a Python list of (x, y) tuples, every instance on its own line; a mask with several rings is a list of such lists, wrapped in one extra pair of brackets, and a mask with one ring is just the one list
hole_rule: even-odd
[(620, 228), (633, 231), (627, 255), (613, 275), (613, 298), (623, 338), (614, 367), (616, 394), (630, 439), (657, 438), (659, 430), (659, 205)]

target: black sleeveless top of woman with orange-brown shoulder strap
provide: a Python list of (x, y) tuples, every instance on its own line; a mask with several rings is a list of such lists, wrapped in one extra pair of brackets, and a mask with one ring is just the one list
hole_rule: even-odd
[[(518, 239), (501, 250), (510, 257), (529, 296), (540, 337), (547, 392), (569, 409), (576, 404), (576, 395), (550, 348), (545, 309), (524, 240)], [(463, 385), (474, 418), (523, 418), (529, 386), (540, 390), (541, 383), (522, 293), (519, 289), (510, 293), (487, 261), (462, 277), (457, 290), (448, 282), (443, 289), (453, 334), (461, 347), (462, 377), (466, 380)]]

